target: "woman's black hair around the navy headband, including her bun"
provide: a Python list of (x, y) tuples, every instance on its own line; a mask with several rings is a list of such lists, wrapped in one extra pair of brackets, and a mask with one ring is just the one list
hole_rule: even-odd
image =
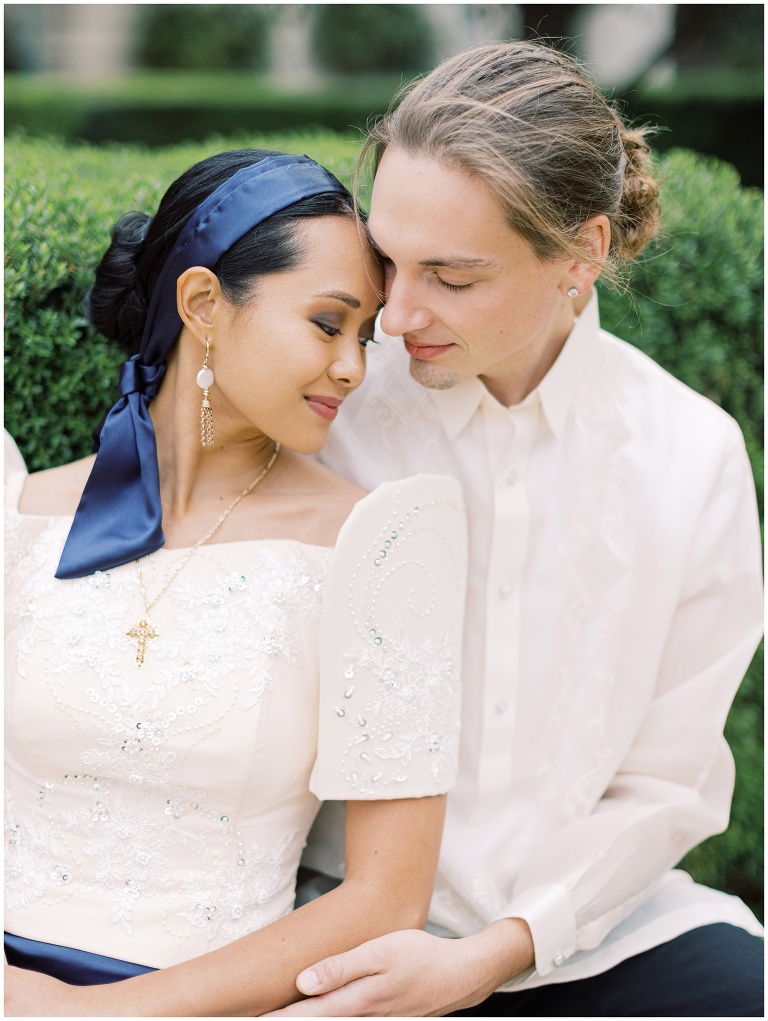
[[(152, 291), (165, 259), (187, 221), (211, 192), (245, 166), (282, 155), (270, 149), (235, 149), (195, 163), (174, 182), (157, 212), (128, 212), (112, 231), (112, 240), (96, 269), (86, 295), (91, 326), (127, 352), (141, 344)], [(352, 199), (335, 192), (301, 199), (257, 224), (224, 253), (213, 272), (228, 301), (242, 305), (258, 277), (292, 270), (301, 261), (299, 221), (307, 216), (354, 217)]]

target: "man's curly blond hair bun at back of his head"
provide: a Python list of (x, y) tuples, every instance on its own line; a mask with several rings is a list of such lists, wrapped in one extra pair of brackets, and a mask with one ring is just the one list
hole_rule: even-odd
[(654, 177), (647, 129), (621, 129), (626, 164), (617, 217), (616, 254), (632, 259), (659, 230), (659, 185)]

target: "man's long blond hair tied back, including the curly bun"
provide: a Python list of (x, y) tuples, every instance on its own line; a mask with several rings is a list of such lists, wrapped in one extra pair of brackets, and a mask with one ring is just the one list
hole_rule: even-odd
[(443, 61), (369, 133), (361, 166), (392, 146), (481, 178), (542, 260), (591, 258), (579, 230), (611, 224), (604, 275), (659, 228), (646, 130), (629, 130), (584, 69), (539, 43), (482, 45)]

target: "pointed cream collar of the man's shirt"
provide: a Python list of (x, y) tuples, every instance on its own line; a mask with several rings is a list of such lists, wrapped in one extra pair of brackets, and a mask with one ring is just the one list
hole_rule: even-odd
[[(595, 350), (598, 331), (597, 294), (592, 289), (589, 301), (574, 323), (549, 372), (533, 393), (508, 410), (514, 410), (515, 407), (530, 402), (532, 398), (535, 399), (535, 394), (549, 428), (555, 436), (560, 438), (576, 386)], [(467, 428), (484, 399), (495, 402), (495, 398), (488, 393), (477, 377), (465, 380), (449, 390), (431, 390), (430, 395), (445, 435), (451, 441)]]

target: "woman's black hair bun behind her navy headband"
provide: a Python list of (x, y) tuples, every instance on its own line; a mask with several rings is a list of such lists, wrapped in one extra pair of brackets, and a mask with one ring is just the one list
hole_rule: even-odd
[(136, 264), (152, 216), (127, 212), (112, 230), (112, 239), (96, 268), (96, 278), (86, 295), (86, 315), (91, 326), (129, 354), (139, 350), (147, 315), (147, 298)]

